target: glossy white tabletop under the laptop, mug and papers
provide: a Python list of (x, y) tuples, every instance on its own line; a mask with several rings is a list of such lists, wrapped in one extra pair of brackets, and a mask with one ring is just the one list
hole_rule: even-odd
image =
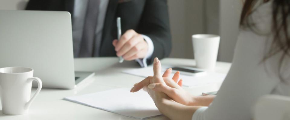
[[(165, 58), (161, 60), (161, 63), (189, 67), (194, 67), (195, 65), (195, 61), (193, 59), (179, 58)], [(227, 73), (230, 65), (230, 63), (217, 62), (215, 71), (219, 73)], [(72, 90), (42, 88), (39, 95), (32, 102), (29, 113), (25, 115), (5, 115), (2, 113), (2, 107), (0, 107), (0, 120), (134, 120), (126, 116), (72, 103), (62, 99), (67, 96), (83, 95), (114, 88), (131, 88), (134, 83), (140, 82), (144, 78), (121, 73), (121, 71), (138, 67), (139, 65), (134, 61), (118, 63), (117, 57), (76, 58), (75, 70), (95, 71), (96, 75), (91, 79), (83, 81), (77, 88)], [(193, 95), (201, 95), (201, 92), (217, 91), (220, 85), (221, 83), (193, 88), (184, 88)], [(35, 88), (32, 89), (31, 95), (34, 94), (35, 90)], [(167, 119), (168, 118), (165, 116), (160, 116), (150, 120)]]

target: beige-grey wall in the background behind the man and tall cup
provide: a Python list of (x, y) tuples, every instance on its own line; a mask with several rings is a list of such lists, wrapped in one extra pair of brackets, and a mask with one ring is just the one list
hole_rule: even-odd
[[(23, 10), (29, 0), (1, 0), (0, 10)], [(221, 35), (218, 61), (230, 62), (238, 35), (241, 0), (168, 0), (170, 57), (194, 58), (193, 34)]]

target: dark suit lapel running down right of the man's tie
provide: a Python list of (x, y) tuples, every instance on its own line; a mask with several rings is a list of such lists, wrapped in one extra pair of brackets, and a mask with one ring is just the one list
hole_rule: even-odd
[(112, 36), (112, 33), (110, 33), (110, 31), (112, 29), (111, 26), (112, 26), (112, 23), (116, 14), (117, 6), (118, 6), (118, 0), (110, 0), (108, 3), (101, 44), (103, 43), (104, 40), (108, 38), (108, 36)]

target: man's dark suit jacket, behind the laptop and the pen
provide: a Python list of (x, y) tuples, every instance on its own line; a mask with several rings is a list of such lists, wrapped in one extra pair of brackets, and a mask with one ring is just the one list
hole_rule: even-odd
[[(26, 10), (68, 11), (73, 14), (74, 0), (30, 0)], [(152, 59), (164, 58), (171, 52), (171, 35), (167, 0), (132, 0), (118, 3), (110, 0), (105, 16), (100, 56), (116, 56), (112, 41), (117, 39), (116, 18), (122, 18), (122, 34), (128, 29), (147, 35), (154, 44)], [(72, 21), (73, 22), (73, 21)]]

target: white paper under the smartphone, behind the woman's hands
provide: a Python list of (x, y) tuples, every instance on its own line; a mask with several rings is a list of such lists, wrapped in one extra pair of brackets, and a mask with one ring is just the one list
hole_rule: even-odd
[[(166, 68), (169, 68), (171, 66), (162, 66), (162, 73), (165, 72)], [(141, 76), (141, 77), (147, 77), (147, 76), (153, 76), (153, 67), (145, 67), (145, 68), (134, 68), (130, 70), (124, 70), (123, 73)], [(170, 77), (172, 77), (174, 73), (171, 74)], [(189, 75), (183, 75), (182, 71), (180, 71), (180, 77), (179, 79), (182, 79), (182, 85), (185, 87), (194, 87), (194, 86), (201, 86), (206, 84), (212, 84), (212, 83), (218, 83), (223, 82), (224, 78), (227, 74), (224, 73), (216, 73), (216, 72), (207, 72), (205, 75), (200, 76), (189, 76)], [(142, 79), (140, 79), (141, 81)]]

